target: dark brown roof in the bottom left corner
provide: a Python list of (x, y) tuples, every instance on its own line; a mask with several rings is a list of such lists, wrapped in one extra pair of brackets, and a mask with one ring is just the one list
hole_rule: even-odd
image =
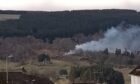
[[(6, 82), (8, 79), (8, 83)], [(0, 72), (0, 84), (54, 84), (48, 78), (41, 78), (22, 72)]]

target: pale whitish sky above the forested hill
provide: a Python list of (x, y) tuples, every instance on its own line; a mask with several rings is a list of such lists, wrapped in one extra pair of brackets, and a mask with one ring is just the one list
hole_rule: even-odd
[(0, 9), (33, 11), (134, 9), (140, 11), (140, 0), (0, 0)]

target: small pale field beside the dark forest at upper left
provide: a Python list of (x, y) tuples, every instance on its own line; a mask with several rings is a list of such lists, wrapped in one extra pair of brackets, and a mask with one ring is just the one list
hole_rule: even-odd
[(19, 18), (20, 15), (17, 14), (0, 14), (0, 21), (17, 20)]

